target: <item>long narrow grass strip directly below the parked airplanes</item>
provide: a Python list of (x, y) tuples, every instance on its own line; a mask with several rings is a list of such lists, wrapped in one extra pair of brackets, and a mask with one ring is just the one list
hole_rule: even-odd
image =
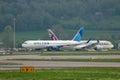
[[(119, 50), (112, 50), (112, 51), (45, 51), (41, 53), (38, 51), (23, 51), (23, 52), (13, 52), (14, 55), (43, 55), (43, 56), (53, 56), (53, 55), (120, 55)], [(7, 55), (7, 54), (6, 54)], [(9, 55), (9, 54), (8, 54)], [(5, 56), (4, 54), (0, 54), (0, 56)]]

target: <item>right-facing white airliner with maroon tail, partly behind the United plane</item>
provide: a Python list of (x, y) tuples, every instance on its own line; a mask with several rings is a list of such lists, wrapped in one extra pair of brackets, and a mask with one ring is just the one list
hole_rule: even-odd
[[(56, 35), (51, 29), (48, 29), (48, 34), (50, 40), (58, 40)], [(81, 40), (79, 45), (76, 46), (64, 46), (63, 49), (72, 49), (72, 50), (96, 50), (96, 51), (105, 51), (113, 48), (113, 44), (107, 40)]]

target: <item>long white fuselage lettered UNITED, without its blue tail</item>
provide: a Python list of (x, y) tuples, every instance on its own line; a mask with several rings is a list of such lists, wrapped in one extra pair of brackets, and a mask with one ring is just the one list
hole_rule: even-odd
[(68, 46), (78, 44), (78, 41), (73, 40), (28, 40), (22, 44), (25, 48), (47, 48), (51, 46)]

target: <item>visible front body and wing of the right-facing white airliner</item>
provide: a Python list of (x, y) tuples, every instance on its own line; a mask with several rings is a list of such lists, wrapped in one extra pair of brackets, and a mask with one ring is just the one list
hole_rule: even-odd
[(87, 41), (87, 40), (81, 40), (80, 41), (80, 45), (77, 45), (75, 47), (73, 47), (76, 50), (79, 49), (86, 49), (86, 50), (90, 50), (90, 49), (94, 49), (94, 50), (109, 50), (111, 48), (113, 48), (113, 44), (110, 41), (107, 40), (91, 40), (91, 41)]

